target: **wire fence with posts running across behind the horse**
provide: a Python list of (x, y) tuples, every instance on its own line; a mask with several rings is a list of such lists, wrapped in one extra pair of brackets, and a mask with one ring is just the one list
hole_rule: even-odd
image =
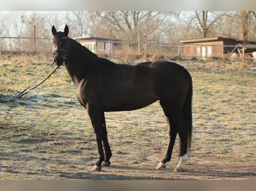
[[(77, 40), (80, 42), (80, 40)], [(23, 53), (51, 53), (51, 38), (32, 37), (0, 37), (1, 54)], [(213, 45), (213, 44), (183, 44), (156, 42), (128, 42), (128, 41), (97, 41), (94, 46), (87, 47), (96, 54), (117, 57), (152, 57), (154, 59), (255, 59), (256, 45)], [(99, 48), (97, 43), (104, 43)], [(106, 46), (108, 45), (108, 46)], [(109, 48), (110, 47), (110, 48)], [(216, 51), (222, 48), (222, 51)], [(93, 49), (93, 50), (92, 50)], [(226, 51), (225, 50), (229, 50)]]

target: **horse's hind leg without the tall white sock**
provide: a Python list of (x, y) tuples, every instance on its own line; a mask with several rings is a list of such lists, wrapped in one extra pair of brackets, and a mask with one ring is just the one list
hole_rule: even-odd
[(177, 130), (171, 121), (171, 119), (167, 116), (165, 116), (166, 123), (167, 123), (167, 128), (168, 128), (168, 134), (169, 134), (169, 142), (165, 151), (165, 156), (161, 160), (161, 162), (157, 165), (157, 169), (165, 168), (165, 163), (171, 160), (171, 153), (173, 149), (173, 145), (175, 143), (176, 135), (177, 135)]

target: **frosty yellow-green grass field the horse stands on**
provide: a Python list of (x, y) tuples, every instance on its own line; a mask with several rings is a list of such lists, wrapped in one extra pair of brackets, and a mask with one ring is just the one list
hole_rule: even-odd
[[(23, 91), (51, 63), (43, 55), (0, 55), (0, 100)], [(166, 169), (155, 169), (167, 145), (159, 102), (105, 114), (112, 164), (91, 172), (98, 155), (91, 122), (60, 67), (21, 99), (0, 104), (0, 179), (255, 180), (256, 64), (177, 63), (187, 68), (194, 87), (193, 139), (185, 172), (173, 172), (178, 139)]]

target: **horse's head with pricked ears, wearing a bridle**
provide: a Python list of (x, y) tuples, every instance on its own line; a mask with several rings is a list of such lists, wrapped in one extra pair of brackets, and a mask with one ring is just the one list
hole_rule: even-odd
[(57, 32), (54, 25), (51, 28), (51, 32), (53, 35), (52, 42), (52, 51), (54, 62), (57, 66), (61, 66), (68, 56), (69, 49), (69, 27), (66, 25), (64, 32)]

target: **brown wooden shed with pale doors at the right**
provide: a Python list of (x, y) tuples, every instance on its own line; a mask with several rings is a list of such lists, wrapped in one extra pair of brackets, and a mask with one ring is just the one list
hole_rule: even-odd
[(243, 41), (225, 37), (189, 39), (179, 42), (184, 44), (183, 56), (186, 58), (223, 58), (232, 55), (241, 57), (256, 51), (256, 42), (247, 42), (243, 53)]

